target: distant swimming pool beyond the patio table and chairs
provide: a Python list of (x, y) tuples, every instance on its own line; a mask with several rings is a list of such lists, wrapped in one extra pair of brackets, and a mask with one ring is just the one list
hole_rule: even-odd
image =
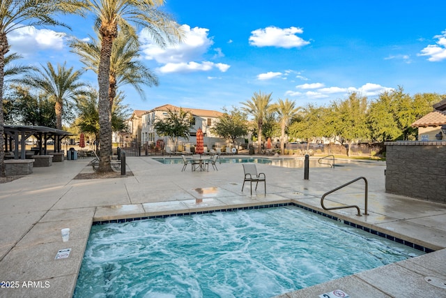
[[(153, 158), (165, 165), (183, 164), (182, 158)], [(276, 165), (279, 167), (304, 167), (303, 158), (236, 158), (224, 157), (218, 158), (218, 163), (263, 163), (266, 165)], [(316, 159), (309, 160), (310, 167), (330, 167), (327, 164), (320, 164)]]

